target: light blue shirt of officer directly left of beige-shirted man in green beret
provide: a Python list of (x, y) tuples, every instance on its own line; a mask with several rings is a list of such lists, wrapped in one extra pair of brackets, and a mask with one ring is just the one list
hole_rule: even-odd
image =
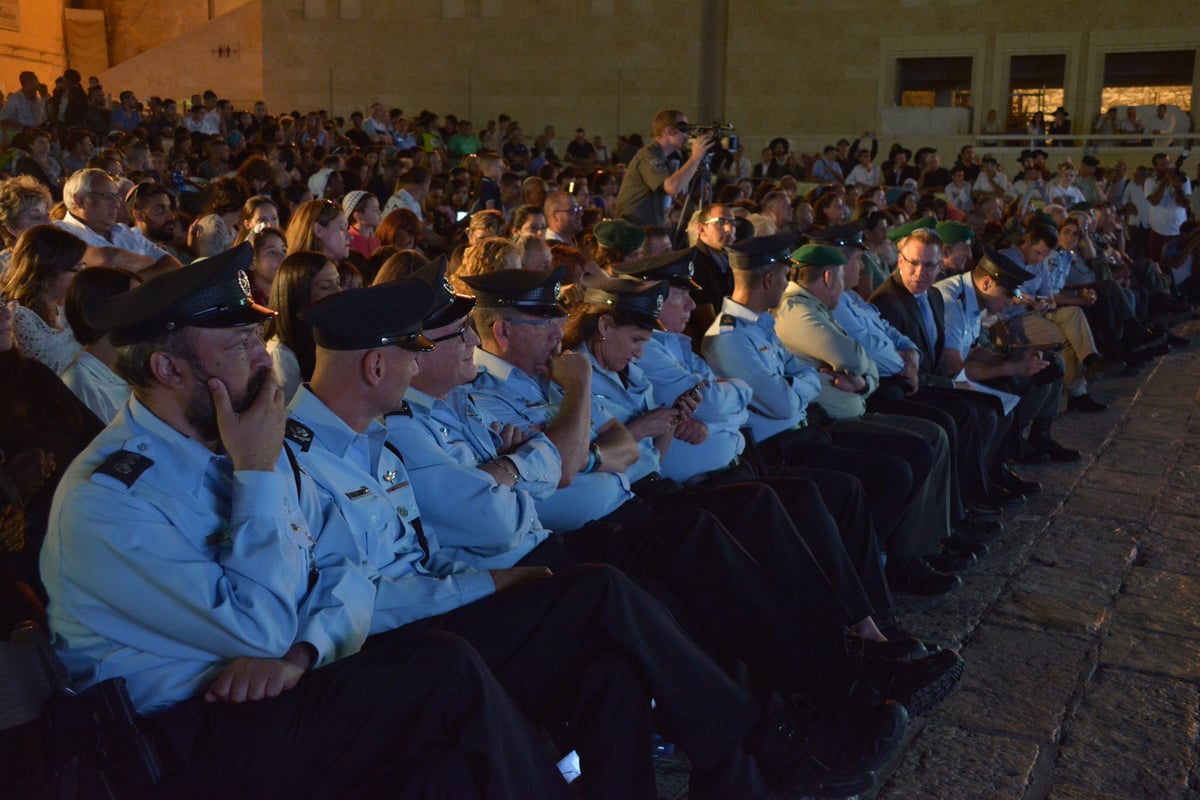
[(718, 375), (750, 386), (750, 429), (757, 441), (805, 422), (809, 403), (821, 393), (817, 371), (779, 341), (775, 318), (730, 297), (704, 333), (703, 355)]

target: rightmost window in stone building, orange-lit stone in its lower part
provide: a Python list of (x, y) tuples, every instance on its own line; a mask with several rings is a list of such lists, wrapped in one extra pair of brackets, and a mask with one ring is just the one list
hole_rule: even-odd
[(1195, 50), (1109, 53), (1100, 108), (1165, 103), (1190, 112), (1194, 72)]

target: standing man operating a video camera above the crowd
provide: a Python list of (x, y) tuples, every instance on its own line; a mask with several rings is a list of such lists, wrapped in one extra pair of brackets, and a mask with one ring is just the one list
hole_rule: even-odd
[(672, 172), (667, 160), (688, 144), (688, 115), (673, 109), (654, 115), (654, 142), (630, 160), (617, 194), (616, 216), (643, 225), (661, 225), (676, 194), (688, 191), (704, 154), (713, 146), (713, 134), (691, 143), (691, 155)]

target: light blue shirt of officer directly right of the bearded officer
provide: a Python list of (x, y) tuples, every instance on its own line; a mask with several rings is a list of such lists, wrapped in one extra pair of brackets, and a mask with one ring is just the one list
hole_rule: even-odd
[[(452, 559), (439, 547), (433, 527), (420, 519), (404, 462), (384, 446), (388, 431), (380, 422), (356, 433), (307, 386), (292, 398), (288, 411), (288, 445), (349, 525), (354, 546), (346, 555), (356, 557), (376, 584), (371, 633), (454, 610), (496, 591), (487, 572)], [(296, 428), (296, 422), (304, 427)], [(325, 540), (317, 546), (320, 551)]]

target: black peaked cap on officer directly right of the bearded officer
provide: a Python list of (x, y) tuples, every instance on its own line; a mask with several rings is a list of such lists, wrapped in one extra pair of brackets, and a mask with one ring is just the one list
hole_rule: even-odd
[(433, 342), (421, 336), (421, 320), (433, 305), (428, 283), (408, 278), (362, 289), (346, 289), (300, 312), (312, 325), (312, 337), (326, 350), (373, 350), (395, 344), (427, 351)]

